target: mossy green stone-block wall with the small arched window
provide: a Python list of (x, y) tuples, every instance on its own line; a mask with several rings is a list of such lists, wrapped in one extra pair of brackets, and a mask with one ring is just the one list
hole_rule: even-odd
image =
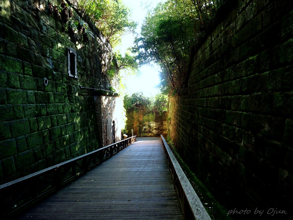
[(109, 86), (110, 45), (91, 23), (94, 38), (69, 34), (70, 21), (86, 21), (73, 7), (64, 23), (47, 6), (0, 1), (0, 184), (100, 147), (90, 88)]

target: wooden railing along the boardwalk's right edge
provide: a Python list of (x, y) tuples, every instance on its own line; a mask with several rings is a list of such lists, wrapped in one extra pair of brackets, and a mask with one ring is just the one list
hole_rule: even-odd
[(178, 194), (184, 219), (211, 220), (162, 135), (161, 142), (167, 158), (169, 170), (173, 177), (174, 188)]

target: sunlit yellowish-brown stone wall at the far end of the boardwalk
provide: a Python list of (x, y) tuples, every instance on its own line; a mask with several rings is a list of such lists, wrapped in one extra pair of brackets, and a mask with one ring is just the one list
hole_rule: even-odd
[(161, 134), (167, 135), (167, 113), (162, 115), (151, 113), (144, 115), (142, 111), (127, 111), (126, 112), (127, 135), (138, 137), (157, 137)]

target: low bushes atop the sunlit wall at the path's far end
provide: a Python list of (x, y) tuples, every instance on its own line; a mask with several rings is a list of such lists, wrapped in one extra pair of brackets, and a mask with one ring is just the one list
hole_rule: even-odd
[(142, 111), (144, 115), (156, 112), (160, 115), (168, 110), (168, 96), (157, 94), (155, 97), (145, 97), (142, 92), (124, 97), (124, 107), (127, 111)]

